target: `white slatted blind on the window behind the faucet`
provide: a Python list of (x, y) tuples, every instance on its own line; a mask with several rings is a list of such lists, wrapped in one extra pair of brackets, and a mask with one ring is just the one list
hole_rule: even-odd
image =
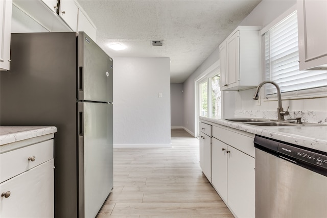
[[(327, 86), (327, 70), (299, 70), (296, 12), (267, 31), (263, 41), (266, 80), (275, 81), (282, 92)], [(273, 93), (276, 88), (267, 84), (265, 94)]]

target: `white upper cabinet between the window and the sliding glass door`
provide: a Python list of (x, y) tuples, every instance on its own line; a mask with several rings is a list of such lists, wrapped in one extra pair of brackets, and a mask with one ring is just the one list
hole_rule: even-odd
[(261, 82), (260, 29), (240, 26), (220, 44), (221, 90), (242, 90)]

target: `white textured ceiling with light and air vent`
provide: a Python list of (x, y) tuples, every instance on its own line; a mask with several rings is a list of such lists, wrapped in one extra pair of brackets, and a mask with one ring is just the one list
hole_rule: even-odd
[[(78, 0), (110, 57), (169, 57), (171, 83), (184, 82), (260, 2)], [(113, 51), (113, 43), (127, 49)]]

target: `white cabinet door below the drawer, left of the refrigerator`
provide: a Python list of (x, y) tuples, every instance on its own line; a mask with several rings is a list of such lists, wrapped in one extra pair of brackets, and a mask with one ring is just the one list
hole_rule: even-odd
[(49, 160), (0, 184), (0, 217), (54, 216), (54, 160)]

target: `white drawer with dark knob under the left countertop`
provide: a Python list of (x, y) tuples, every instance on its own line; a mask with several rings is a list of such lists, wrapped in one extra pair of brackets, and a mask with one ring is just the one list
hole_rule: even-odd
[(51, 159), (53, 159), (53, 139), (3, 153), (0, 155), (0, 182)]

